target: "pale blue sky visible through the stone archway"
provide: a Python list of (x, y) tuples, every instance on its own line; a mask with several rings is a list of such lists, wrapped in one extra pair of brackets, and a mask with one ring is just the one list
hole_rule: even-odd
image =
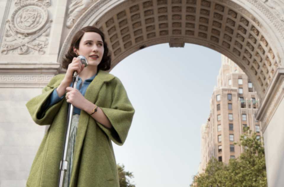
[(185, 44), (159, 44), (122, 60), (110, 72), (135, 108), (128, 138), (114, 145), (117, 163), (136, 187), (188, 187), (201, 162), (200, 128), (221, 67), (221, 54)]

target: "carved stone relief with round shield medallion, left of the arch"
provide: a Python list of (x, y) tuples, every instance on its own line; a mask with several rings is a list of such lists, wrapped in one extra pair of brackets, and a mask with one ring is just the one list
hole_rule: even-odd
[(17, 9), (6, 21), (1, 54), (44, 54), (52, 20), (46, 7), (49, 0), (18, 0)]

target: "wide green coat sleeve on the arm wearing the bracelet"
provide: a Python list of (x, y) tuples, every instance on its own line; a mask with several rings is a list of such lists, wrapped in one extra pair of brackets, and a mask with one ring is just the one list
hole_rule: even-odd
[(112, 93), (111, 107), (100, 107), (107, 118), (109, 118), (113, 128), (108, 129), (104, 125), (97, 123), (114, 143), (123, 145), (128, 135), (135, 110), (120, 80), (116, 78), (115, 82), (116, 85)]

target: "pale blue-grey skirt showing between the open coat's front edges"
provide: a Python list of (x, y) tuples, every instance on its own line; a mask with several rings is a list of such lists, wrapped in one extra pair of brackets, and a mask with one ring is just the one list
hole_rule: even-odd
[(79, 114), (75, 114), (72, 117), (71, 134), (70, 134), (70, 139), (68, 143), (68, 151), (67, 151), (67, 159), (66, 159), (68, 161), (68, 165), (67, 165), (67, 171), (65, 172), (64, 187), (69, 187), (69, 184), (70, 184), (73, 154), (75, 150), (75, 142), (76, 142), (79, 118), (80, 118)]

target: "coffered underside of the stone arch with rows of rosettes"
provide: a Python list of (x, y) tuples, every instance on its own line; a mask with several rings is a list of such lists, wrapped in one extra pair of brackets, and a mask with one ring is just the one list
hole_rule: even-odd
[[(126, 0), (117, 4), (109, 1), (105, 3), (108, 8), (98, 1), (93, 9), (100, 2), (101, 13), (97, 10), (92, 15), (81, 16), (61, 54), (67, 51), (72, 34), (87, 25), (105, 33), (113, 53), (112, 68), (128, 55), (151, 45), (199, 44), (235, 61), (250, 77), (260, 98), (277, 67), (282, 66), (275, 39), (268, 34), (263, 21), (232, 1)], [(91, 11), (92, 7), (85, 14)], [(188, 63), (196, 62), (188, 59)]]

